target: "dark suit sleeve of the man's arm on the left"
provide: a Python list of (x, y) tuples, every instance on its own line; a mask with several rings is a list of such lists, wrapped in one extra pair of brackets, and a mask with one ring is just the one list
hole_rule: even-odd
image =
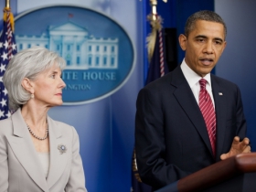
[(135, 119), (135, 150), (139, 175), (143, 182), (156, 188), (190, 173), (165, 162), (164, 103), (161, 95), (149, 89), (139, 92)]

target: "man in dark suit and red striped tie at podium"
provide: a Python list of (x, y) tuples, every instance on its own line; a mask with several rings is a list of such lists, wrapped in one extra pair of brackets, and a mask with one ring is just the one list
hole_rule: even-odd
[[(231, 155), (251, 152), (238, 86), (210, 74), (226, 47), (226, 35), (216, 13), (189, 16), (179, 36), (186, 51), (182, 64), (139, 92), (136, 159), (143, 182), (154, 190)], [(213, 117), (201, 108), (201, 79)]]

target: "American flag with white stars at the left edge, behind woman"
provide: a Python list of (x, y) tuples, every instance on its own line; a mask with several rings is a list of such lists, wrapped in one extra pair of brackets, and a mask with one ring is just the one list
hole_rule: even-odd
[(8, 94), (3, 83), (3, 76), (9, 60), (16, 54), (16, 41), (11, 27), (10, 8), (4, 9), (4, 27), (0, 37), (0, 120), (10, 116)]

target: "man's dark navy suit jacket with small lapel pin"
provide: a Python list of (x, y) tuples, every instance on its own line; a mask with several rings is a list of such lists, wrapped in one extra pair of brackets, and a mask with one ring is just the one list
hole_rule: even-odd
[(229, 152), (233, 138), (246, 135), (240, 90), (211, 75), (217, 118), (213, 156), (206, 124), (180, 66), (139, 92), (135, 149), (139, 174), (154, 189), (198, 171)]

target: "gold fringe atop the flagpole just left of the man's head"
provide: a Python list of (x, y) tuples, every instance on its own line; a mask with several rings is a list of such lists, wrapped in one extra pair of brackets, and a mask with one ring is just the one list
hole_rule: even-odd
[(148, 60), (150, 62), (154, 54), (157, 31), (162, 29), (163, 19), (161, 16), (156, 16), (156, 19), (154, 20), (152, 15), (147, 16), (147, 19), (150, 21), (152, 27), (151, 33), (146, 37), (146, 48)]

